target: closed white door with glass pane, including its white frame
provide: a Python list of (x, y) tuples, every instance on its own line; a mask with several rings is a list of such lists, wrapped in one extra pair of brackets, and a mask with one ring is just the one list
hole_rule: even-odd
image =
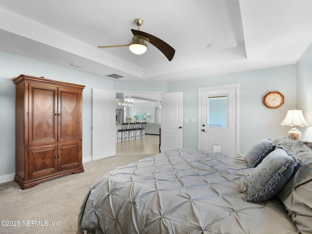
[(236, 87), (200, 91), (199, 149), (236, 153)]

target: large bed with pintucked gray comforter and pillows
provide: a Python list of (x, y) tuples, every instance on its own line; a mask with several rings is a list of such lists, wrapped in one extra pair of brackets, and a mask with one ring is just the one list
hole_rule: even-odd
[(264, 139), (246, 156), (174, 149), (146, 157), (91, 186), (78, 226), (105, 234), (311, 234), (312, 149)]

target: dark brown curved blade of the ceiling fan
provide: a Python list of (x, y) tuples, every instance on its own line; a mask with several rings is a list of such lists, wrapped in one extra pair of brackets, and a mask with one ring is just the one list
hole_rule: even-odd
[(156, 38), (155, 36), (142, 32), (142, 31), (138, 31), (135, 29), (131, 29), (133, 35), (138, 36), (138, 37), (144, 37), (144, 38), (148, 38), (150, 39), (150, 43), (152, 45), (154, 45), (158, 50), (160, 50), (169, 61), (171, 61), (176, 53), (176, 50), (174, 48), (172, 48), (169, 44), (167, 44), (165, 41)]

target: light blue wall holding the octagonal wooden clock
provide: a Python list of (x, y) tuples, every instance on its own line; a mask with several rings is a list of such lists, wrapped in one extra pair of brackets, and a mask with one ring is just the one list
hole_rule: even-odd
[[(287, 110), (296, 106), (296, 65), (273, 67), (207, 78), (168, 83), (168, 92), (183, 92), (184, 118), (196, 118), (196, 123), (183, 123), (183, 147), (197, 148), (198, 88), (240, 84), (240, 153), (246, 154), (259, 140), (287, 136), (288, 129), (280, 126)], [(285, 104), (278, 109), (263, 105), (263, 96), (279, 91)]]

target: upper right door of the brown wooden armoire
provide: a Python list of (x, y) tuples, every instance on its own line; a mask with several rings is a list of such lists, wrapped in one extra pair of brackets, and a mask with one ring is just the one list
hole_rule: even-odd
[(59, 88), (59, 141), (81, 138), (81, 92)]

